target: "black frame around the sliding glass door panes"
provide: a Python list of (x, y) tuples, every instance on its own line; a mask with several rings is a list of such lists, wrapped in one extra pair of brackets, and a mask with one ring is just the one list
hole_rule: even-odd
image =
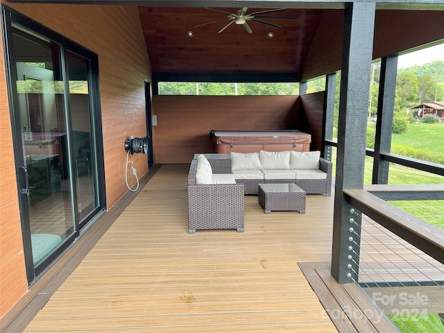
[[(62, 45), (62, 54), (68, 49), (70, 51), (74, 51), (79, 55), (85, 56), (89, 60), (89, 88), (94, 94), (90, 96), (90, 103), (94, 99), (94, 144), (98, 145), (98, 142), (103, 142), (103, 134), (101, 129), (101, 104), (100, 104), (100, 96), (99, 96), (99, 60), (98, 56), (92, 51), (88, 51), (84, 46), (80, 44), (76, 44), (76, 42), (72, 42), (67, 40), (65, 36), (62, 36), (54, 31), (51, 31), (49, 28), (45, 26), (41, 26), (40, 24), (35, 23), (32, 19), (26, 17), (20, 12), (17, 12), (5, 5), (0, 3), (0, 15), (1, 15), (1, 33), (3, 35), (3, 46), (5, 49), (4, 52), (4, 62), (5, 62), (5, 74), (6, 74), (6, 92), (8, 94), (8, 106), (10, 113), (10, 122), (11, 122), (11, 135), (12, 135), (12, 148), (14, 149), (14, 163), (15, 163), (15, 172), (17, 178), (17, 193), (18, 193), (18, 203), (19, 203), (19, 214), (20, 214), (20, 223), (22, 226), (22, 241), (24, 246), (24, 266), (26, 269), (26, 278), (28, 280), (28, 286), (31, 286), (37, 278), (46, 271), (51, 264), (55, 262), (57, 257), (59, 257), (69, 246), (71, 246), (75, 239), (80, 236), (82, 232), (85, 232), (87, 228), (83, 228), (85, 225), (92, 225), (101, 214), (106, 211), (106, 196), (105, 196), (105, 177), (104, 177), (104, 158), (103, 158), (103, 149), (95, 148), (96, 150), (96, 164), (97, 164), (97, 173), (101, 175), (97, 182), (97, 195), (99, 196), (98, 207), (91, 212), (83, 221), (79, 221), (78, 215), (76, 215), (76, 185), (74, 184), (74, 180), (71, 187), (72, 197), (70, 205), (73, 207), (73, 219), (74, 219), (74, 232), (69, 234), (66, 239), (59, 244), (49, 257), (43, 259), (42, 262), (34, 265), (33, 260), (33, 249), (32, 249), (32, 241), (31, 241), (31, 223), (30, 223), (30, 212), (28, 205), (28, 178), (26, 173), (26, 162), (24, 161), (24, 148), (23, 148), (23, 138), (22, 138), (22, 128), (20, 125), (20, 115), (17, 112), (17, 105), (19, 105), (19, 97), (17, 95), (17, 69), (15, 66), (15, 56), (12, 51), (12, 22), (20, 22), (20, 25), (24, 26), (26, 30), (35, 32), (42, 37), (48, 37), (53, 42), (56, 42)], [(60, 60), (60, 62), (64, 63), (64, 58)], [(92, 74), (96, 75), (92, 75)], [(65, 87), (66, 90), (66, 87)], [(65, 96), (65, 110), (69, 108), (69, 96)], [(91, 106), (91, 105), (90, 105)], [(71, 128), (69, 128), (71, 130)], [(69, 144), (71, 147), (72, 144)], [(72, 155), (70, 152), (69, 154)], [(71, 175), (74, 175), (74, 163), (71, 161), (71, 165), (69, 165)], [(91, 222), (91, 223), (89, 223)], [(83, 228), (83, 229), (82, 229)]]

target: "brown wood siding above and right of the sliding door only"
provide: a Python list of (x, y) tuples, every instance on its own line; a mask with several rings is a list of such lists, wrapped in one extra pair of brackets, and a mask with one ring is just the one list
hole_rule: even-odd
[[(123, 177), (123, 143), (129, 135), (146, 135), (144, 80), (151, 80), (151, 67), (137, 7), (29, 3), (10, 6), (99, 54), (103, 146), (111, 154), (108, 157), (105, 153), (107, 203), (109, 207), (114, 205), (128, 191)], [(59, 19), (54, 19), (55, 12), (60, 12)], [(120, 143), (116, 143), (115, 137), (119, 137)], [(111, 153), (114, 150), (123, 156), (118, 165), (107, 161), (115, 159)], [(115, 167), (118, 171), (114, 171)], [(146, 159), (137, 158), (135, 168), (143, 176), (148, 171)], [(116, 173), (120, 183), (113, 182)], [(110, 180), (108, 175), (113, 178)], [(114, 191), (108, 182), (119, 189)]]

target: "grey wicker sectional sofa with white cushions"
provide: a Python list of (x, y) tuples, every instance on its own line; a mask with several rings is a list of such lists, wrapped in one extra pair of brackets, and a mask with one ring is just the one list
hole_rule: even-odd
[(244, 195), (262, 183), (295, 183), (307, 194), (330, 196), (332, 162), (313, 152), (194, 155), (188, 174), (189, 233), (244, 231)]

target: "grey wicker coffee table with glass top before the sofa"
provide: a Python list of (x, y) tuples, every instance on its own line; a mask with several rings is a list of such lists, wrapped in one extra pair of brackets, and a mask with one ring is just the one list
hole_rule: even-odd
[(272, 210), (305, 213), (305, 191), (296, 184), (259, 184), (258, 198), (265, 214)]

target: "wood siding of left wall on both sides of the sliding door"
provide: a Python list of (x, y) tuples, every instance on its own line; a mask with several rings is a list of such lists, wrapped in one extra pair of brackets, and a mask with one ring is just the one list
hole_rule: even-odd
[[(146, 135), (145, 121), (145, 96), (144, 81), (151, 80), (151, 67), (146, 44), (139, 22), (137, 7), (135, 6), (92, 6), (92, 5), (68, 5), (68, 4), (32, 4), (32, 3), (8, 3), (0, 0), (7, 6), (22, 12), (24, 15), (35, 19), (44, 26), (65, 35), (99, 55), (99, 77), (101, 89), (101, 112), (103, 119), (103, 149), (105, 158), (105, 182), (108, 208), (128, 192), (124, 180), (126, 152), (124, 142), (128, 135), (142, 137)], [(3, 46), (1, 46), (3, 47)], [(1, 142), (1, 187), (9, 195), (4, 198), (13, 198), (10, 193), (17, 195), (17, 182), (15, 181), (15, 167), (13, 167), (12, 138), (10, 137), (10, 120), (6, 96), (6, 78), (4, 72), (3, 50), (0, 49), (0, 142)], [(6, 150), (6, 151), (5, 151)], [(3, 154), (12, 156), (12, 166), (5, 165)], [(134, 155), (132, 160), (137, 169), (137, 175), (142, 177), (148, 171), (146, 155)], [(10, 162), (8, 162), (10, 163)], [(13, 171), (5, 168), (12, 167)], [(13, 176), (6, 187), (5, 179)], [(9, 184), (11, 183), (11, 185)], [(135, 180), (130, 179), (130, 184)], [(9, 223), (20, 224), (18, 201), (14, 199), (15, 219)], [(3, 200), (0, 200), (3, 207)], [(3, 222), (3, 216), (1, 216)], [(8, 216), (8, 219), (14, 216)], [(17, 227), (17, 225), (16, 225)], [(0, 233), (3, 234), (3, 227)], [(11, 228), (17, 234), (8, 232), (6, 237), (17, 244), (22, 244), (20, 228)], [(1, 240), (3, 244), (3, 239)], [(0, 270), (2, 278), (15, 281), (15, 284), (0, 285), (0, 316), (14, 305), (26, 292), (27, 282), (24, 271), (23, 253), (10, 257), (3, 257), (1, 253)], [(19, 258), (19, 259), (17, 259)], [(10, 262), (12, 269), (3, 269), (3, 262)], [(8, 279), (9, 275), (9, 279)], [(5, 288), (8, 287), (10, 297), (6, 300)]]

